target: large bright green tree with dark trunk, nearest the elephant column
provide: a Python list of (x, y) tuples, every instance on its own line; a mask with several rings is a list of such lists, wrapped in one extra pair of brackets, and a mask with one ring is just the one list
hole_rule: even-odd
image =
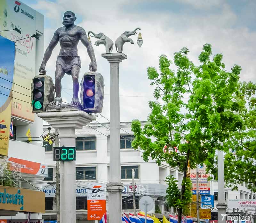
[(143, 151), (143, 159), (151, 157), (158, 165), (166, 162), (183, 173), (181, 190), (172, 178), (167, 179), (167, 202), (177, 207), (178, 222), (191, 200), (188, 161), (190, 168), (195, 168), (214, 160), (215, 150), (223, 149), (220, 142), (242, 125), (234, 112), (241, 68), (235, 65), (226, 71), (221, 54), (211, 60), (210, 44), (204, 45), (199, 66), (189, 60), (188, 52), (188, 48), (182, 48), (174, 54), (176, 71), (170, 69), (172, 62), (164, 55), (159, 57), (159, 73), (148, 67), (156, 100), (149, 101), (151, 112), (143, 129), (139, 120), (132, 121), (132, 146)]

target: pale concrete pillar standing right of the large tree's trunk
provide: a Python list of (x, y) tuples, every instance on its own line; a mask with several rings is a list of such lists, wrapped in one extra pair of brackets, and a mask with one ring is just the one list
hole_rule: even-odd
[[(223, 143), (222, 143), (223, 146)], [(226, 208), (225, 203), (225, 182), (224, 182), (224, 155), (223, 151), (218, 150), (218, 223), (226, 223)]]

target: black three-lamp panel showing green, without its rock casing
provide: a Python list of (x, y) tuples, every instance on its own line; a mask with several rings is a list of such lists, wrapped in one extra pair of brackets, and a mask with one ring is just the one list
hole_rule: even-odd
[(33, 100), (32, 100), (32, 110), (33, 111), (43, 111), (44, 105), (44, 77), (34, 78), (34, 90)]

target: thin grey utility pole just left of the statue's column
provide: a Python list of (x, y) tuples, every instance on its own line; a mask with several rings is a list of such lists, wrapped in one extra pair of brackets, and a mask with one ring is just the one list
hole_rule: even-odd
[[(55, 129), (55, 145), (59, 147), (59, 130)], [(60, 223), (60, 162), (56, 161), (56, 207), (57, 223)]]

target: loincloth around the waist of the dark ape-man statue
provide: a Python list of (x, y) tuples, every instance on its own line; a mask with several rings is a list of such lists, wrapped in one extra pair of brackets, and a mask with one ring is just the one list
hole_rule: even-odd
[(71, 74), (71, 68), (73, 65), (77, 65), (81, 68), (80, 56), (58, 56), (56, 66), (59, 64), (66, 74)]

